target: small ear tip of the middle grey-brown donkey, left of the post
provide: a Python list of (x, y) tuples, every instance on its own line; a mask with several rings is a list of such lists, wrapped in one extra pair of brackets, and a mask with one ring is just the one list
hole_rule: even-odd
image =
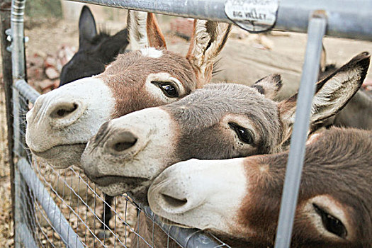
[(260, 94), (272, 100), (276, 97), (282, 85), (280, 74), (270, 74), (269, 76), (259, 79), (252, 87), (257, 89)]

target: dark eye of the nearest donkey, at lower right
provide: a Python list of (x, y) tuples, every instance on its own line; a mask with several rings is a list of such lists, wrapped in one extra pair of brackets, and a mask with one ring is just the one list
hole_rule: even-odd
[(346, 237), (346, 227), (342, 224), (341, 220), (330, 215), (315, 203), (312, 203), (312, 205), (314, 206), (315, 212), (317, 212), (317, 214), (322, 218), (323, 226), (328, 232), (332, 232), (334, 235), (342, 238)]

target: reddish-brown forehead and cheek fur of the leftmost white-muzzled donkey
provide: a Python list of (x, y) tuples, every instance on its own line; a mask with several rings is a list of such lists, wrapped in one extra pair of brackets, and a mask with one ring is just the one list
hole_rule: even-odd
[(111, 67), (98, 75), (111, 88), (116, 100), (113, 118), (164, 104), (145, 89), (145, 81), (150, 73), (167, 72), (179, 79), (185, 89), (185, 94), (180, 98), (196, 88), (196, 77), (187, 60), (174, 52), (162, 52), (161, 58), (144, 57), (139, 51), (119, 55)]

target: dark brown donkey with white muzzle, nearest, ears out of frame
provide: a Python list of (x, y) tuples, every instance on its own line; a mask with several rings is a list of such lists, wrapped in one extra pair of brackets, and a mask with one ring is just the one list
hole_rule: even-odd
[[(331, 128), (308, 140), (291, 247), (372, 246), (371, 150), (369, 130)], [(150, 186), (150, 207), (233, 247), (274, 247), (287, 159), (179, 162)]]

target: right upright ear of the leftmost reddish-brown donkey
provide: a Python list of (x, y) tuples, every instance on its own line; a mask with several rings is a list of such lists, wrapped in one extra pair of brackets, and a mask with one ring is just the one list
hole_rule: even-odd
[(195, 20), (193, 36), (186, 55), (198, 78), (198, 88), (207, 84), (213, 71), (213, 63), (230, 34), (231, 24)]

